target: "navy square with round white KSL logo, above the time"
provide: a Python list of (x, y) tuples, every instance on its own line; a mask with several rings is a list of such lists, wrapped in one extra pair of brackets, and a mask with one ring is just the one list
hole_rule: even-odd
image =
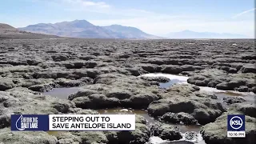
[(232, 114), (227, 116), (228, 131), (245, 131), (245, 115)]

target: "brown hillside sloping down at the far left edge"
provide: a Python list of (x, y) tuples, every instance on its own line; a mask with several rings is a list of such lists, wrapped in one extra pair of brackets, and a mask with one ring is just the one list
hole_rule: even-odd
[(15, 29), (13, 26), (0, 23), (0, 38), (59, 38), (55, 35), (35, 34)]

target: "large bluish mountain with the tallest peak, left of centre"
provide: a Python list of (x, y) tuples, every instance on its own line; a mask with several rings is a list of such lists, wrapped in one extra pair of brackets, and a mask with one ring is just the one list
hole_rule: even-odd
[(130, 26), (94, 26), (86, 20), (74, 20), (72, 22), (38, 23), (19, 30), (40, 34), (54, 34), (62, 37), (74, 38), (159, 38), (146, 34), (142, 30)]

